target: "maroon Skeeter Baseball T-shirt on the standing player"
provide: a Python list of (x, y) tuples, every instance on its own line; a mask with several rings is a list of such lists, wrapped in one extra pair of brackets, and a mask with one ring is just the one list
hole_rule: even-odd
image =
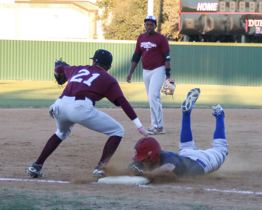
[(143, 69), (153, 70), (164, 66), (163, 52), (169, 52), (170, 47), (165, 36), (155, 32), (153, 35), (146, 36), (146, 33), (140, 34), (137, 38), (135, 52), (142, 53)]

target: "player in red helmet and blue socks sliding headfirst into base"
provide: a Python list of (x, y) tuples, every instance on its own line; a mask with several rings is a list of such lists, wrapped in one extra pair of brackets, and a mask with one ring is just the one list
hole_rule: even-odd
[(212, 107), (212, 114), (216, 118), (212, 149), (197, 150), (192, 137), (190, 114), (199, 94), (200, 89), (192, 89), (182, 104), (179, 154), (161, 150), (160, 144), (152, 137), (140, 139), (134, 146), (134, 162), (129, 166), (132, 170), (138, 173), (149, 170), (151, 174), (171, 171), (177, 177), (182, 177), (209, 174), (219, 169), (228, 154), (224, 111), (219, 104)]

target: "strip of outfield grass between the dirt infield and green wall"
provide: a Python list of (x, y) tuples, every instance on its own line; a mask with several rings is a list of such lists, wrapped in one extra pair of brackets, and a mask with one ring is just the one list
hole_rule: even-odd
[[(120, 83), (123, 93), (133, 107), (149, 107), (143, 83)], [(180, 107), (187, 92), (200, 88), (197, 107), (209, 108), (220, 103), (224, 108), (262, 108), (262, 87), (215, 86), (177, 84), (172, 96), (161, 93), (162, 106)], [(0, 80), (0, 107), (49, 107), (61, 95), (55, 82)], [(96, 107), (115, 107), (107, 99), (96, 103)]]

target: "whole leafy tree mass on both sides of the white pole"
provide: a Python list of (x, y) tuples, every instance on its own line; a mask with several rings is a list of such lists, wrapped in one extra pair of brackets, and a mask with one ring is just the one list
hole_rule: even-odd
[[(144, 18), (147, 15), (147, 0), (101, 0), (104, 8), (98, 20), (102, 21), (105, 39), (136, 40), (144, 33)], [(179, 0), (155, 0), (154, 15), (157, 17), (157, 32), (168, 40), (181, 40), (178, 34)]]

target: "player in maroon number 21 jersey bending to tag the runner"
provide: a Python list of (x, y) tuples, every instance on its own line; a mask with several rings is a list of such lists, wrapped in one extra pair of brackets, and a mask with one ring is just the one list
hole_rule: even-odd
[(93, 60), (92, 66), (69, 66), (62, 63), (54, 68), (55, 75), (63, 74), (68, 84), (62, 95), (49, 108), (50, 116), (56, 120), (57, 131), (47, 141), (38, 159), (27, 170), (27, 174), (32, 178), (44, 176), (43, 163), (69, 136), (75, 123), (109, 136), (102, 157), (93, 171), (93, 176), (104, 175), (100, 167), (107, 164), (113, 156), (123, 137), (124, 128), (112, 117), (94, 107), (95, 102), (102, 98), (121, 106), (137, 130), (148, 138), (147, 131), (125, 99), (117, 80), (107, 73), (111, 68), (112, 54), (107, 50), (97, 50), (90, 59)]

